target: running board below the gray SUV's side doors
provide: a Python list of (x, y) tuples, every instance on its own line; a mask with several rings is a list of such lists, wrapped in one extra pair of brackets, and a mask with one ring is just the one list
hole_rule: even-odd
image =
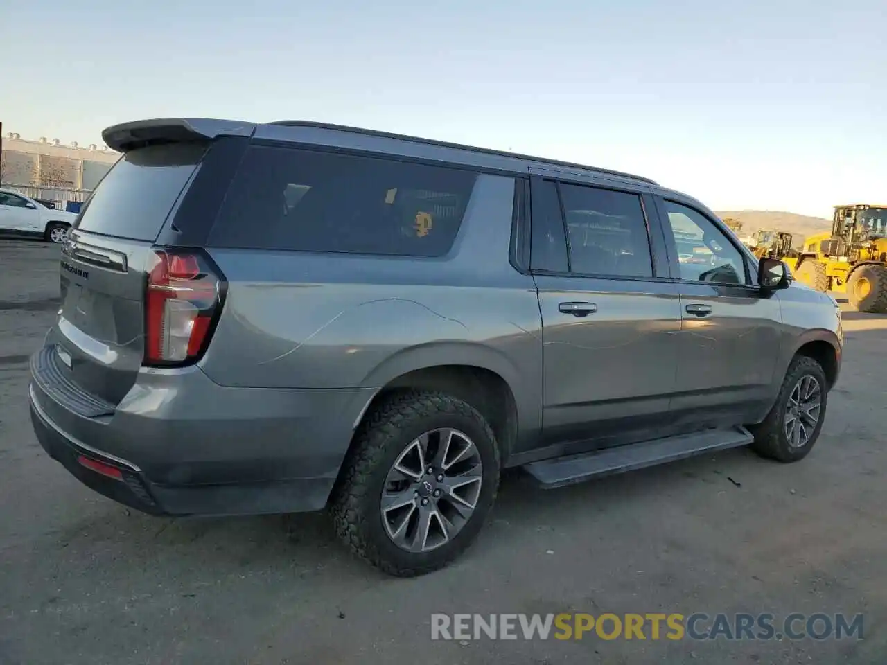
[(669, 436), (643, 443), (596, 450), (582, 455), (532, 462), (523, 468), (544, 489), (553, 489), (612, 473), (624, 473), (691, 458), (710, 450), (725, 450), (748, 445), (754, 440), (745, 427), (707, 429), (694, 434)]

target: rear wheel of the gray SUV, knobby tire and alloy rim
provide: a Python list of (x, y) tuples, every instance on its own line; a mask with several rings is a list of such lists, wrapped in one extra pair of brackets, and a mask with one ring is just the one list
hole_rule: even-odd
[(491, 427), (442, 393), (396, 395), (361, 426), (334, 491), (341, 539), (401, 577), (446, 566), (483, 526), (498, 489)]

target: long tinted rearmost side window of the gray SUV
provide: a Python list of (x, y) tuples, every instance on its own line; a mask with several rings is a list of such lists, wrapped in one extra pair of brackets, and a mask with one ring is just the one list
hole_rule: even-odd
[(253, 146), (208, 244), (441, 256), (456, 238), (475, 179), (458, 168)]

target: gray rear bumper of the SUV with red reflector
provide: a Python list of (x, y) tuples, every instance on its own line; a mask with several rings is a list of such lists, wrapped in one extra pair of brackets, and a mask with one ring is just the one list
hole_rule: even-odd
[[(203, 372), (139, 374), (113, 415), (77, 412), (32, 359), (31, 420), (51, 458), (85, 485), (152, 514), (325, 507), (370, 390), (220, 387)], [(35, 366), (37, 365), (37, 366)], [(80, 457), (119, 470), (111, 478)]]

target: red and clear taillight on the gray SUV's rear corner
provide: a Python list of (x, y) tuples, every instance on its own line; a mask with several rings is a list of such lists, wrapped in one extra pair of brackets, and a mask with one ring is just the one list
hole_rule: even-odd
[(145, 364), (195, 363), (222, 309), (224, 277), (201, 253), (155, 249), (145, 293)]

